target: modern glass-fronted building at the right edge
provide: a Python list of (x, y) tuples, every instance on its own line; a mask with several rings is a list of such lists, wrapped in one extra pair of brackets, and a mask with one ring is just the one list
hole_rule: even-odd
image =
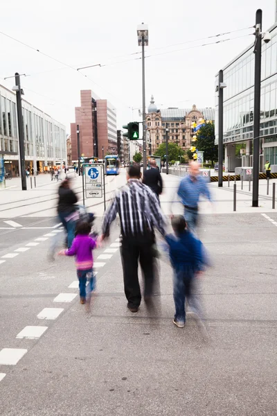
[[(277, 24), (269, 32), (271, 41), (268, 44), (262, 41), (260, 171), (265, 160), (269, 159), (271, 165), (276, 165), (272, 166), (274, 172), (277, 171)], [(254, 58), (251, 44), (223, 69), (226, 83), (223, 92), (223, 143), (227, 172), (234, 171), (236, 166), (252, 166)], [(218, 74), (215, 85), (218, 85)], [(218, 97), (215, 101), (215, 138), (218, 142)]]

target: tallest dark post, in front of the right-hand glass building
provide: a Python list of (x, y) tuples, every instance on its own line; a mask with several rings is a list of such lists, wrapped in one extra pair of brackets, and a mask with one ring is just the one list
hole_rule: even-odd
[(255, 83), (254, 83), (254, 126), (253, 126), (253, 195), (252, 207), (259, 204), (260, 165), (260, 71), (262, 60), (262, 10), (256, 11), (255, 40)]

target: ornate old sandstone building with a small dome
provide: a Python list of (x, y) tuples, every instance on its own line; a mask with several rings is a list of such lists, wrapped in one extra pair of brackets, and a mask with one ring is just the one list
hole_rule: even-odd
[(215, 110), (211, 107), (197, 109), (196, 105), (192, 108), (170, 107), (158, 110), (152, 96), (148, 114), (146, 114), (148, 155), (154, 154), (159, 145), (166, 142), (166, 125), (168, 126), (168, 142), (177, 144), (183, 150), (188, 150), (194, 135), (191, 125), (202, 119), (214, 121)]

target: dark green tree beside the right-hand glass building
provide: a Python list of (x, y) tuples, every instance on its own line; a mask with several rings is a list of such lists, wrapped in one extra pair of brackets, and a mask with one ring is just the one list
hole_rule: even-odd
[(215, 124), (206, 123), (199, 128), (197, 141), (195, 142), (197, 150), (204, 152), (204, 160), (217, 162), (218, 146), (215, 144)]

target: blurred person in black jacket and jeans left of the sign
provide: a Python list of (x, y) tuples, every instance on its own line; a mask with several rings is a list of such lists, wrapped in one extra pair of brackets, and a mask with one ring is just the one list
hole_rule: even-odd
[(64, 180), (62, 184), (60, 184), (58, 193), (59, 202), (57, 203), (57, 214), (62, 225), (64, 225), (64, 228), (66, 229), (68, 248), (71, 248), (75, 236), (75, 221), (71, 219), (71, 216), (76, 209), (75, 203), (78, 202), (78, 199), (70, 188), (69, 179)]

